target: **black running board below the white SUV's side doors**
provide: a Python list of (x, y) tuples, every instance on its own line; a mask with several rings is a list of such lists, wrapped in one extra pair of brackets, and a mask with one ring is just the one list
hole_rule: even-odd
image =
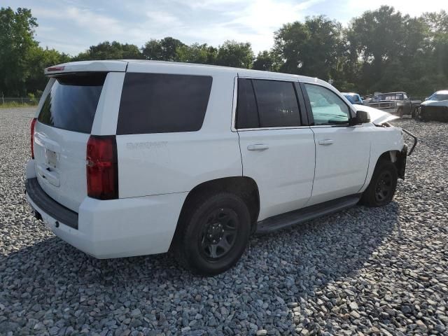
[(359, 202), (360, 196), (360, 194), (345, 196), (338, 198), (337, 200), (311, 205), (311, 207), (266, 218), (257, 223), (257, 230), (255, 232), (258, 234), (274, 232), (276, 230), (289, 228), (298, 223), (310, 221), (314, 218), (332, 214), (342, 209), (353, 207), (353, 205)]

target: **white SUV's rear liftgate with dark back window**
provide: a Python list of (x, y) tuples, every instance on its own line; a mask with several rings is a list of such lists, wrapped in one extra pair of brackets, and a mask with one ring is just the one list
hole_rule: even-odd
[(86, 146), (106, 76), (106, 72), (61, 73), (50, 79), (48, 95), (39, 105), (34, 134), (38, 183), (73, 211), (87, 196)]

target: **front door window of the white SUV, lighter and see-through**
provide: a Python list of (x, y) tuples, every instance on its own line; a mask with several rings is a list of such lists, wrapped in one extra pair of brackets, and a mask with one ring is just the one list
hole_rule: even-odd
[(341, 125), (349, 123), (350, 110), (335, 92), (325, 87), (305, 84), (314, 125)]

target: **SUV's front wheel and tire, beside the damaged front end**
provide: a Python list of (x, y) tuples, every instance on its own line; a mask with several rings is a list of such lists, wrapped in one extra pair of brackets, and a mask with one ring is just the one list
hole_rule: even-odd
[(369, 186), (360, 199), (367, 207), (384, 207), (389, 204), (397, 188), (397, 167), (388, 161), (380, 160), (372, 175)]

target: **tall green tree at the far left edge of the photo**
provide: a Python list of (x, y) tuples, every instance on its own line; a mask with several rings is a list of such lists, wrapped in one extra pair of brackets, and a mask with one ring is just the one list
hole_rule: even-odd
[(31, 10), (18, 8), (0, 9), (0, 92), (4, 95), (25, 94), (30, 76), (27, 55), (36, 48), (34, 28), (36, 18)]

